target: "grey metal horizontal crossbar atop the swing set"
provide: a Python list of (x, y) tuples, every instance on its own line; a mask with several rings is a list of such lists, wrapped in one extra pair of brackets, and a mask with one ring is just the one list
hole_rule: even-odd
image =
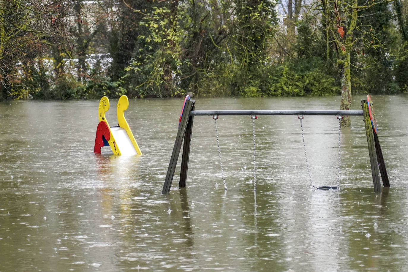
[(361, 115), (363, 111), (317, 111), (317, 110), (224, 110), (224, 111), (191, 111), (191, 116), (203, 115)]

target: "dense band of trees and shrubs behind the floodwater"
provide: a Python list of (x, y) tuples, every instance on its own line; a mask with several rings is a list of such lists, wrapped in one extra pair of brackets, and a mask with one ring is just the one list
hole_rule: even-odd
[(406, 92), (407, 6), (4, 0), (0, 101)]

